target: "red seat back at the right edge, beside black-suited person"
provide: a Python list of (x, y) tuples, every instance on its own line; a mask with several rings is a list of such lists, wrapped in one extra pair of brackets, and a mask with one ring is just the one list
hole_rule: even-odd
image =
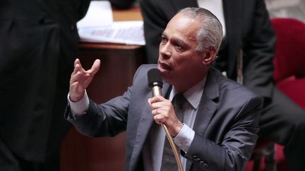
[(276, 86), (305, 108), (305, 23), (292, 18), (272, 20), (277, 34), (273, 60)]

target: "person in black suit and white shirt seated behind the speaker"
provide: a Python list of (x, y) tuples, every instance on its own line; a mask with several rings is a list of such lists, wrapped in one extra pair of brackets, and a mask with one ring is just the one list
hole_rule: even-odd
[(273, 84), (276, 37), (263, 0), (141, 0), (148, 63), (157, 62), (166, 23), (188, 6), (208, 8), (220, 18), (225, 36), (213, 65), (263, 97), (259, 136), (285, 145), (291, 170), (305, 170), (305, 112)]

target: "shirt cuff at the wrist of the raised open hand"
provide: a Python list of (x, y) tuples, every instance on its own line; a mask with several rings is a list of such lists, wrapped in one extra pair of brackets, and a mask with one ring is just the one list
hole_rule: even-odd
[(78, 118), (80, 115), (84, 115), (89, 108), (87, 91), (85, 91), (83, 98), (76, 102), (70, 101), (70, 94), (68, 94), (68, 103), (70, 105), (73, 118)]

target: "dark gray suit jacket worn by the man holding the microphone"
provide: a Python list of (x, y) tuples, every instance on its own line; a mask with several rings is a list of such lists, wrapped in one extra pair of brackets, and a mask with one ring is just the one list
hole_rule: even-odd
[[(148, 105), (151, 91), (147, 71), (156, 65), (142, 65), (127, 91), (107, 103), (90, 101), (85, 115), (73, 120), (69, 108), (65, 117), (91, 137), (115, 136), (126, 131), (125, 170), (143, 170), (141, 151), (152, 123)], [(167, 94), (166, 82), (162, 94)], [(258, 138), (262, 99), (241, 84), (210, 70), (187, 153), (188, 170), (242, 170)]]

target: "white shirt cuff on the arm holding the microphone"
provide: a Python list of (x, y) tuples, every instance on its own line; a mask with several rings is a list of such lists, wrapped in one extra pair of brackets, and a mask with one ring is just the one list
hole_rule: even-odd
[(195, 137), (195, 132), (188, 125), (183, 124), (181, 131), (174, 137), (174, 142), (185, 153), (189, 150)]

